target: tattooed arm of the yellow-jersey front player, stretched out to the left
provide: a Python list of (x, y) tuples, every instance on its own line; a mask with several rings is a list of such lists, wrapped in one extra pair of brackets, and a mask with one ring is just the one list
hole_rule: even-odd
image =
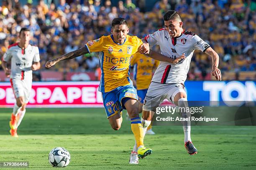
[(45, 64), (45, 67), (49, 68), (49, 67), (55, 65), (57, 62), (59, 62), (61, 60), (70, 60), (72, 58), (79, 57), (79, 56), (87, 54), (87, 53), (89, 53), (89, 51), (88, 51), (87, 47), (84, 46), (82, 48), (79, 48), (78, 50), (68, 52), (64, 55), (61, 55), (58, 58), (47, 61), (46, 64)]

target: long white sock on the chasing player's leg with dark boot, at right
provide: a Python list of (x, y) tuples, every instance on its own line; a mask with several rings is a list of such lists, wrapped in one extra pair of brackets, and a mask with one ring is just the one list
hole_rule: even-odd
[[(187, 98), (181, 98), (178, 100), (178, 106), (179, 107), (188, 107), (188, 103), (187, 103)], [(184, 118), (190, 117), (191, 114), (190, 112), (182, 112), (181, 116)], [(182, 121), (182, 127), (183, 127), (183, 131), (184, 131), (184, 143), (186, 143), (187, 141), (191, 141), (191, 137), (190, 137), (190, 121)]]

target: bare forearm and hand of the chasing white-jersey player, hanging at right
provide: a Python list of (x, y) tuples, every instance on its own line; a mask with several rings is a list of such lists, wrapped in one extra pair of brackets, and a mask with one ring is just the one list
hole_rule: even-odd
[(221, 72), (220, 69), (218, 69), (219, 55), (212, 49), (212, 47), (207, 48), (205, 53), (212, 57), (212, 75), (215, 76), (216, 80), (221, 81)]

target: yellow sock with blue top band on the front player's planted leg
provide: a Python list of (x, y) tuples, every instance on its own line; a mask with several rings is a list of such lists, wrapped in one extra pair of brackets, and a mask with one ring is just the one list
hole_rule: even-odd
[(143, 126), (141, 125), (140, 117), (134, 117), (131, 119), (131, 130), (133, 131), (137, 147), (144, 145), (143, 144)]

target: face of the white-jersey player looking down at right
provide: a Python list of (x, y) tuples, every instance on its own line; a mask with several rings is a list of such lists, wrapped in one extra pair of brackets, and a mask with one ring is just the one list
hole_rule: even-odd
[(164, 21), (164, 26), (171, 37), (178, 37), (182, 33), (182, 25), (183, 23), (177, 20)]

